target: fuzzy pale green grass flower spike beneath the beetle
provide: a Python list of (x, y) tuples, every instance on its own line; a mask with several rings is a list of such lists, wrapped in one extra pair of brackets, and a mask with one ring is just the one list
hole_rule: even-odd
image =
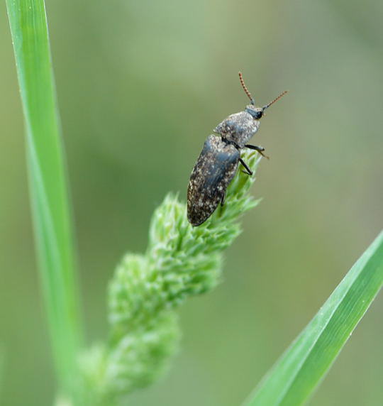
[[(257, 154), (244, 155), (255, 172)], [(112, 405), (167, 368), (180, 336), (175, 309), (220, 281), (222, 251), (240, 234), (240, 215), (257, 205), (248, 193), (254, 180), (238, 170), (224, 206), (198, 227), (187, 221), (177, 195), (168, 194), (155, 210), (148, 250), (126, 254), (111, 280), (108, 344), (82, 354), (84, 403)]]

